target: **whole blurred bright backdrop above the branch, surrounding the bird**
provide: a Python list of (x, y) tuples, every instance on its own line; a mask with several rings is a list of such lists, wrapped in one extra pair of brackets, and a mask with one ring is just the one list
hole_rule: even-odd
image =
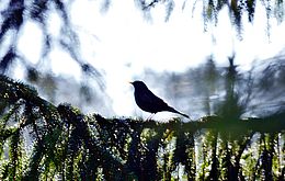
[(270, 0), (2, 0), (0, 72), (109, 117), (149, 116), (133, 80), (194, 120), (266, 116), (285, 109), (284, 12)]

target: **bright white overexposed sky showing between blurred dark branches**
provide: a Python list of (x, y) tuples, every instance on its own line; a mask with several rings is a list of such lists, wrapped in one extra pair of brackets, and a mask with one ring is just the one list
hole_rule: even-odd
[[(146, 68), (158, 72), (184, 71), (204, 63), (212, 54), (219, 65), (226, 65), (227, 57), (235, 50), (236, 64), (249, 69), (252, 60), (272, 57), (285, 47), (285, 36), (282, 35), (285, 24), (277, 25), (275, 20), (270, 20), (269, 37), (267, 20), (259, 1), (253, 24), (243, 24), (242, 39), (230, 24), (227, 9), (219, 13), (217, 26), (209, 23), (205, 32), (200, 1), (194, 11), (192, 3), (186, 3), (182, 10), (182, 2), (176, 1), (168, 22), (164, 22), (162, 4), (152, 10), (152, 19), (145, 19), (133, 0), (112, 1), (106, 12), (100, 9), (101, 3), (75, 1), (70, 7), (71, 22), (79, 33), (83, 59), (104, 75), (106, 92), (117, 115), (129, 115), (134, 111), (133, 89), (127, 81), (140, 79)], [(60, 36), (60, 19), (56, 13), (48, 19), (53, 35)], [(93, 23), (88, 23), (90, 19)], [(244, 22), (246, 19), (247, 15)], [(19, 46), (32, 63), (39, 59), (41, 41), (38, 26), (27, 23)], [(82, 79), (77, 64), (56, 45), (49, 57), (55, 73)]]

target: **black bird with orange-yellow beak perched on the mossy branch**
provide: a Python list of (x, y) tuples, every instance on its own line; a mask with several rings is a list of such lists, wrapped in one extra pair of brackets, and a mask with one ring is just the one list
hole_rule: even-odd
[(174, 110), (173, 108), (169, 106), (162, 99), (155, 95), (142, 81), (136, 80), (130, 83), (135, 88), (136, 103), (141, 110), (153, 114), (161, 111), (169, 111), (190, 118), (189, 115)]

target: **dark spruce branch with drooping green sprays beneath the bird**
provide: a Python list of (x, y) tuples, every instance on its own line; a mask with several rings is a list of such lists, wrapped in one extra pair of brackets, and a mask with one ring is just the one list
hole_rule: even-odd
[[(231, 179), (248, 179), (253, 174), (261, 178), (258, 173), (243, 172), (241, 160), (253, 161), (244, 158), (244, 154), (255, 155), (258, 170), (266, 163), (274, 165), (274, 169), (266, 169), (269, 176), (273, 176), (271, 172), (281, 176), (277, 170), (284, 172), (282, 162), (273, 161), (284, 156), (283, 151), (274, 151), (275, 143), (270, 143), (271, 149), (260, 146), (255, 148), (259, 151), (254, 151), (252, 140), (260, 133), (283, 135), (285, 112), (235, 121), (204, 116), (187, 123), (180, 118), (166, 123), (106, 118), (99, 114), (84, 115), (70, 104), (56, 106), (38, 97), (33, 88), (4, 76), (0, 76), (0, 157), (7, 159), (8, 145), (11, 152), (8, 160), (12, 163), (0, 163), (0, 179), (15, 178), (18, 173), (20, 180), (48, 177), (61, 177), (62, 180), (95, 180), (100, 177), (106, 180), (171, 179), (180, 166), (185, 167), (189, 179), (206, 179), (212, 174), (225, 179), (229, 174), (223, 171), (226, 166), (219, 165), (223, 159), (228, 165), (228, 173), (235, 171)], [(24, 138), (24, 132), (32, 139), (29, 155), (21, 154), (31, 146), (20, 144), (19, 137)], [(216, 133), (214, 139), (208, 134), (210, 132)], [(201, 145), (202, 151), (215, 155), (204, 155), (203, 160), (196, 161), (198, 150), (195, 146)], [(270, 157), (262, 158), (264, 156)], [(206, 161), (210, 159), (214, 165), (207, 167)], [(259, 163), (261, 160), (262, 165)], [(23, 161), (26, 163), (22, 165)], [(204, 161), (202, 166), (201, 161)], [(220, 173), (214, 176), (217, 170)]]

